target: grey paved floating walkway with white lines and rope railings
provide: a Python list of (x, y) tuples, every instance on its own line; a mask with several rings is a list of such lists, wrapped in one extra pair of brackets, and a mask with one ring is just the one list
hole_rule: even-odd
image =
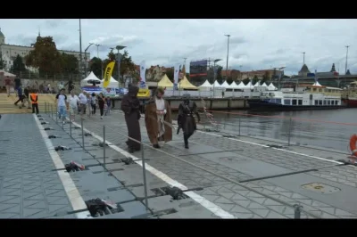
[[(73, 126), (62, 126), (55, 116), (41, 115), (3, 115), (0, 120), (2, 218), (88, 218), (85, 200), (94, 198), (120, 205), (116, 213), (96, 218), (295, 218), (294, 205), (303, 207), (301, 218), (357, 217), (357, 170), (337, 161), (346, 158), (343, 151), (287, 146), (287, 141), (224, 130), (197, 131), (189, 150), (182, 134), (174, 133), (172, 142), (154, 150), (142, 120), (144, 152), (129, 154), (119, 111), (103, 120), (86, 117), (85, 136), (79, 118)], [(105, 165), (99, 145), (104, 125)], [(54, 151), (58, 145), (72, 149)], [(71, 160), (87, 169), (66, 173), (64, 164)], [(167, 186), (185, 195), (172, 200)]]

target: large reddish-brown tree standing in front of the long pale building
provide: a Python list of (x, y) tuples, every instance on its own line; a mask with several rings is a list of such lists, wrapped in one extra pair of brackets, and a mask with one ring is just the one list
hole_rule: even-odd
[(54, 74), (61, 71), (61, 54), (53, 37), (37, 37), (33, 50), (25, 57), (26, 66), (38, 69), (39, 73)]

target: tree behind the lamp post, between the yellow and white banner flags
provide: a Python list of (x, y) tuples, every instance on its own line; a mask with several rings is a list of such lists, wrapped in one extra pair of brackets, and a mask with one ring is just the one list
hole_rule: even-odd
[[(116, 61), (115, 53), (108, 53), (108, 59), (104, 60), (104, 70), (109, 62)], [(134, 62), (131, 60), (131, 56), (129, 56), (128, 51), (124, 51), (120, 60), (120, 81), (123, 82), (123, 76), (130, 75), (131, 77), (136, 77), (136, 67)], [(112, 70), (112, 77), (118, 78), (118, 63), (116, 62), (114, 65), (114, 69)]]

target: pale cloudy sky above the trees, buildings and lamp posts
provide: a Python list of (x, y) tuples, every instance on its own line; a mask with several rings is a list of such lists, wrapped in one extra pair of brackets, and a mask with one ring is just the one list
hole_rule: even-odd
[[(100, 44), (104, 58), (115, 45), (126, 45), (132, 59), (147, 66), (173, 66), (187, 58), (222, 59), (229, 69), (286, 67), (297, 74), (305, 63), (311, 71), (328, 71), (332, 63), (345, 73), (345, 45), (351, 45), (348, 68), (357, 73), (357, 20), (81, 20), (82, 49)], [(79, 20), (0, 20), (6, 43), (29, 45), (52, 36), (59, 49), (79, 51)], [(89, 50), (96, 56), (96, 47)], [(242, 67), (240, 67), (242, 66)]]

